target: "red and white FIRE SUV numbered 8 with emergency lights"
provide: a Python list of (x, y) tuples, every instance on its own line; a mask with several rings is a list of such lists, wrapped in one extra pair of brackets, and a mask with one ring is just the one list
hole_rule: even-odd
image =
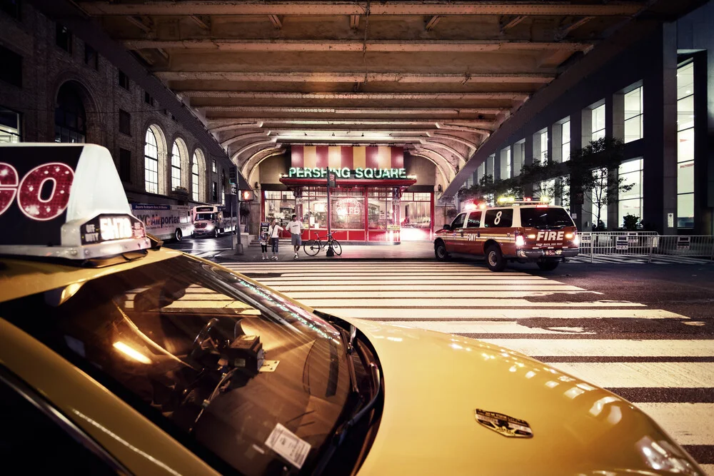
[(465, 253), (485, 256), (492, 271), (503, 270), (508, 261), (535, 262), (550, 271), (560, 260), (578, 255), (580, 238), (565, 208), (531, 201), (512, 203), (459, 213), (436, 232), (436, 259)]

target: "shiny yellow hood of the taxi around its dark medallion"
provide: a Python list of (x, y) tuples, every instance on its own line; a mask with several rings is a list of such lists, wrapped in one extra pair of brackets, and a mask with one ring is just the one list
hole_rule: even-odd
[[(703, 474), (632, 404), (525, 355), (348, 321), (371, 341), (383, 370), (383, 414), (360, 475)], [(524, 420), (533, 435), (503, 436), (481, 425), (476, 409)]]

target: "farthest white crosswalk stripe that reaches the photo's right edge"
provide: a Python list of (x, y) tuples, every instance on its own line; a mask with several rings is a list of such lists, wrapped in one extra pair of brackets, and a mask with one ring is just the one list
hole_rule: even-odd
[(633, 357), (703, 357), (714, 356), (714, 340), (533, 340), (483, 339), (488, 343), (517, 350), (526, 355), (561, 356), (633, 356)]

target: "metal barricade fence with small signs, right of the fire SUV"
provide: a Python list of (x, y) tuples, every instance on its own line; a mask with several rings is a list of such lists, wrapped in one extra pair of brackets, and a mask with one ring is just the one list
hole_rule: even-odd
[(714, 260), (714, 236), (660, 236), (654, 231), (613, 231), (580, 233), (580, 255), (686, 256)]

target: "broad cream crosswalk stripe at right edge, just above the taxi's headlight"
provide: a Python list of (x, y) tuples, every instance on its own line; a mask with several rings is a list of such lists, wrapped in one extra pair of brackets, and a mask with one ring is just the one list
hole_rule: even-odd
[(638, 403), (680, 445), (714, 444), (714, 403)]

